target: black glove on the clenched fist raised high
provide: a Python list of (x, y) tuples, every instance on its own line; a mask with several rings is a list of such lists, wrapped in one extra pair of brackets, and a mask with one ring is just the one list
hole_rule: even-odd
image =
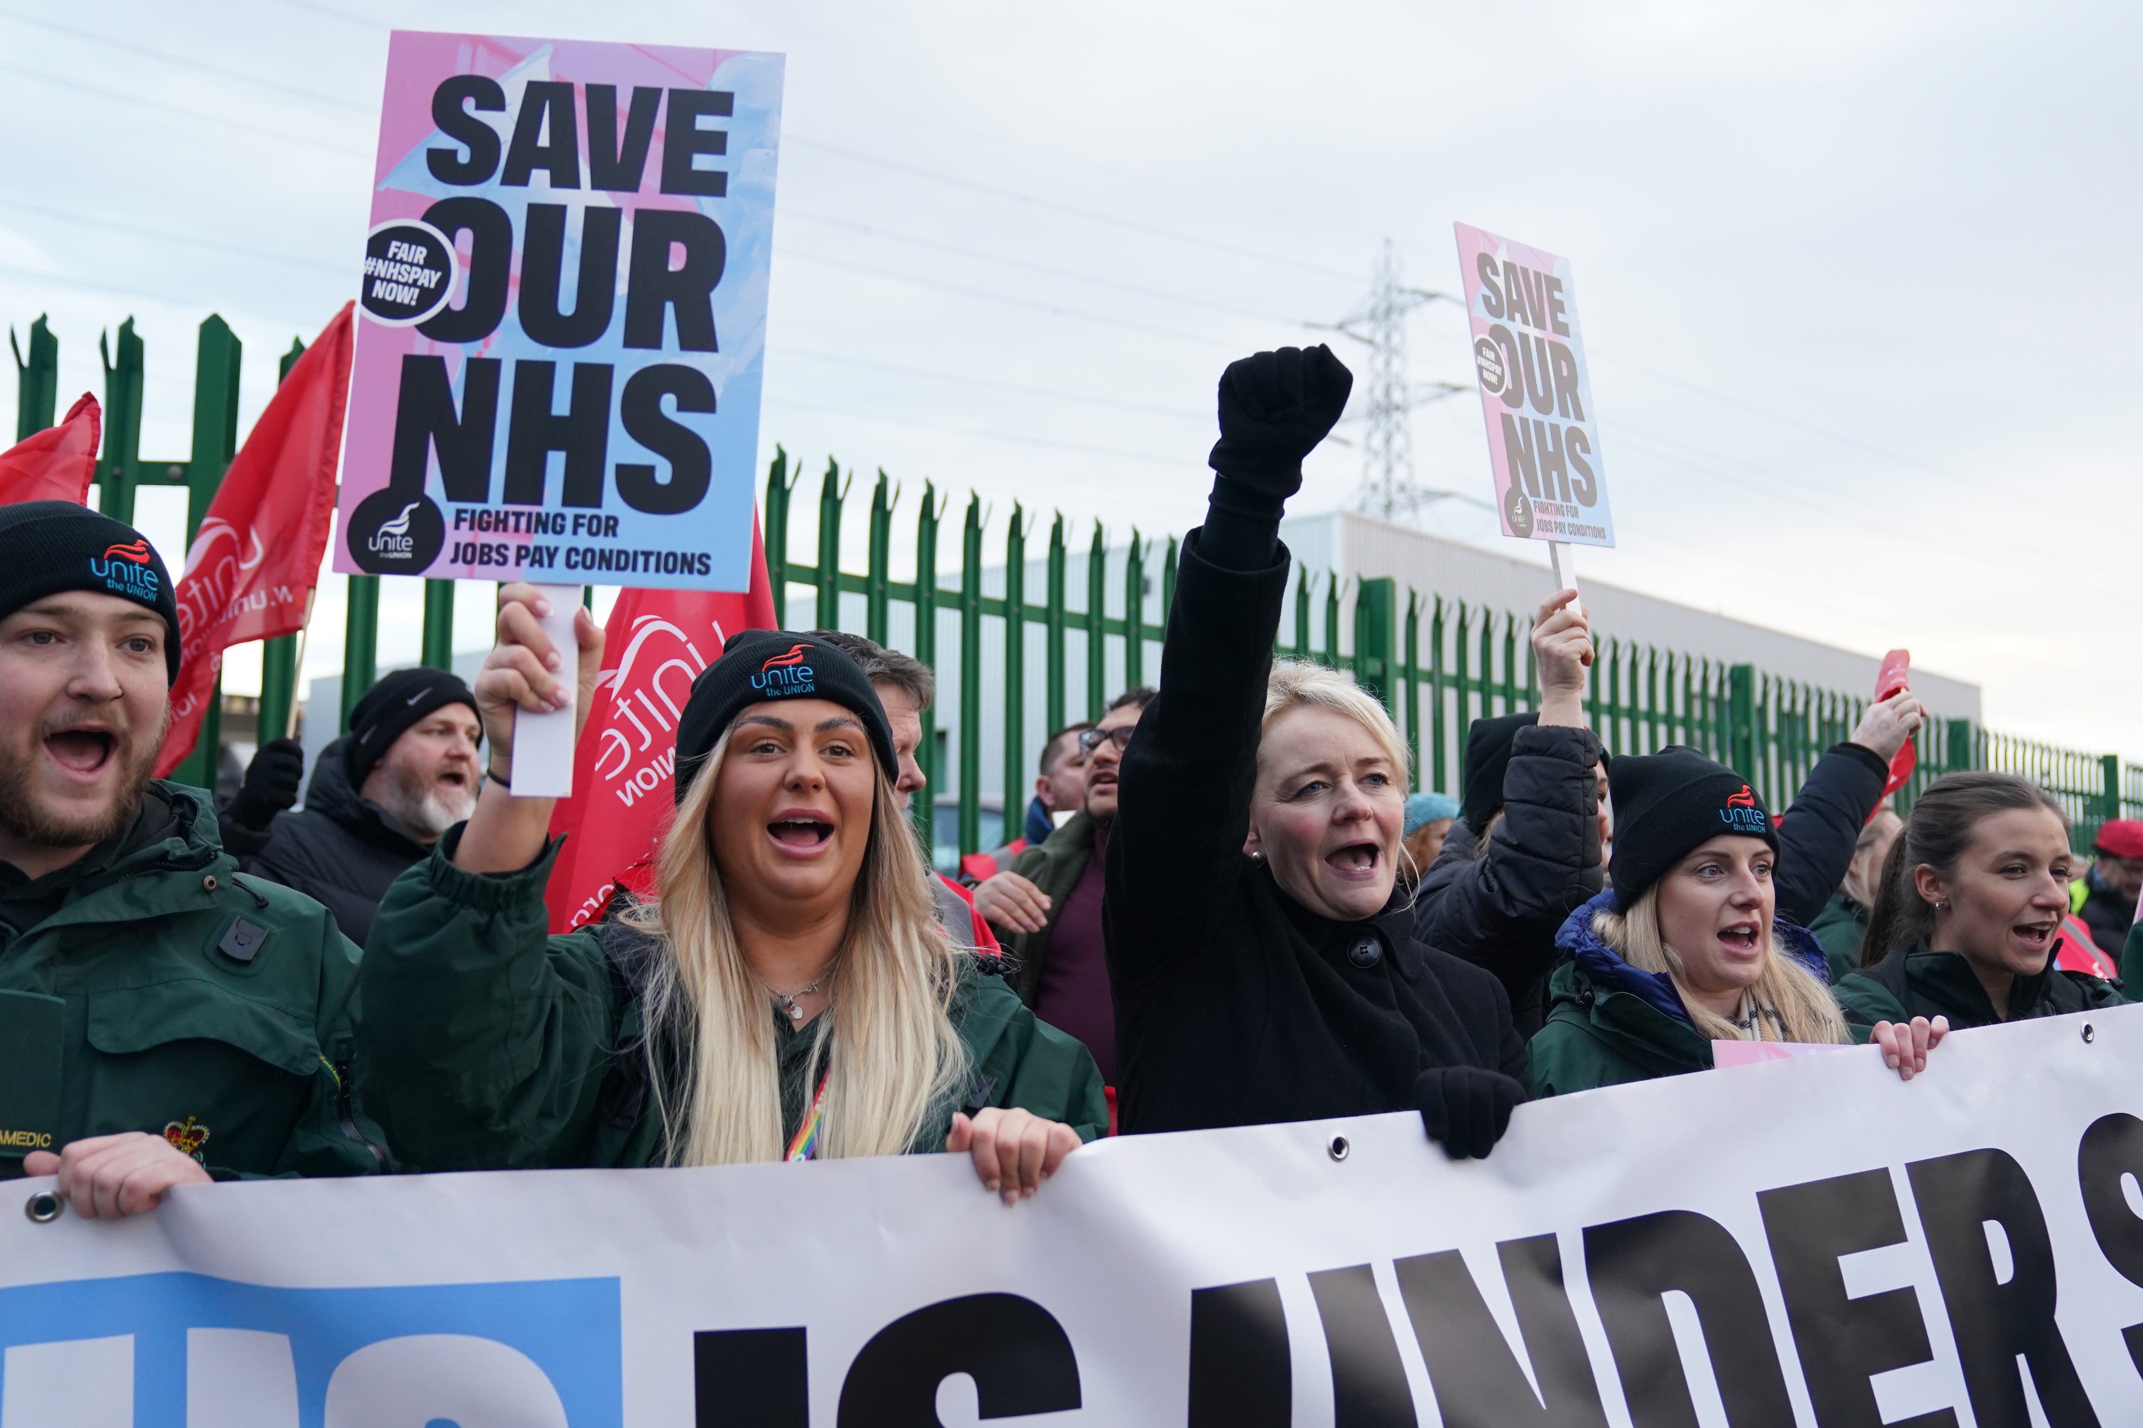
[(1277, 507), (1301, 490), (1303, 456), (1331, 432), (1352, 390), (1354, 375), (1322, 343), (1230, 362), (1219, 379), (1213, 469)]

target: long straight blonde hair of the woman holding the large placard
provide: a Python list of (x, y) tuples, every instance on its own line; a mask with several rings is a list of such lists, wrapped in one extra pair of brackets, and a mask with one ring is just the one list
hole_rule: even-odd
[[(707, 835), (726, 751), (729, 732), (662, 839), (658, 901), (626, 912), (660, 942), (643, 1000), (643, 1053), (669, 1165), (780, 1160), (784, 1152), (771, 1002), (737, 944)], [(827, 1158), (906, 1152), (932, 1109), (966, 1081), (966, 1049), (951, 1023), (960, 955), (939, 929), (894, 786), (876, 764), (872, 773), (870, 839), (806, 1073), (806, 1094), (821, 1066), (827, 1075), (816, 1152)], [(831, 1049), (829, 1034), (838, 1034)]]

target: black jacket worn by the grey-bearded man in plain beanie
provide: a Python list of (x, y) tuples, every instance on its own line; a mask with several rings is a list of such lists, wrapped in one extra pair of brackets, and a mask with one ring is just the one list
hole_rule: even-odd
[(276, 814), (246, 871), (324, 903), (343, 936), (364, 946), (388, 884), (431, 850), (349, 786), (347, 743), (321, 749), (304, 807)]

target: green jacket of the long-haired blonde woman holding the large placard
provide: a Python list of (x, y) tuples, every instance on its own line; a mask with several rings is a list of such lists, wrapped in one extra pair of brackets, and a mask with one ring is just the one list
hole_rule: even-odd
[[(583, 929), (549, 936), (557, 844), (519, 873), (454, 867), (461, 831), (388, 888), (364, 957), (358, 1085), (416, 1169), (641, 1167), (662, 1158), (630, 957)], [(971, 963), (954, 1002), (971, 1060), (962, 1105), (917, 1137), (939, 1150), (956, 1109), (1022, 1107), (1091, 1141), (1108, 1128), (1087, 1047), (1035, 1021)]]

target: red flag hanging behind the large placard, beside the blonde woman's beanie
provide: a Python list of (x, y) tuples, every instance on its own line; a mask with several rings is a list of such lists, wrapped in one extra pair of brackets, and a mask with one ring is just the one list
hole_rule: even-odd
[(572, 833), (544, 888), (551, 931), (594, 923), (619, 886), (634, 897), (654, 893), (654, 854), (673, 805), (677, 717), (692, 681), (722, 657), (731, 634), (774, 627), (756, 518), (752, 589), (619, 591), (602, 627), (609, 668), (572, 751), (572, 796), (551, 811), (551, 835)]

